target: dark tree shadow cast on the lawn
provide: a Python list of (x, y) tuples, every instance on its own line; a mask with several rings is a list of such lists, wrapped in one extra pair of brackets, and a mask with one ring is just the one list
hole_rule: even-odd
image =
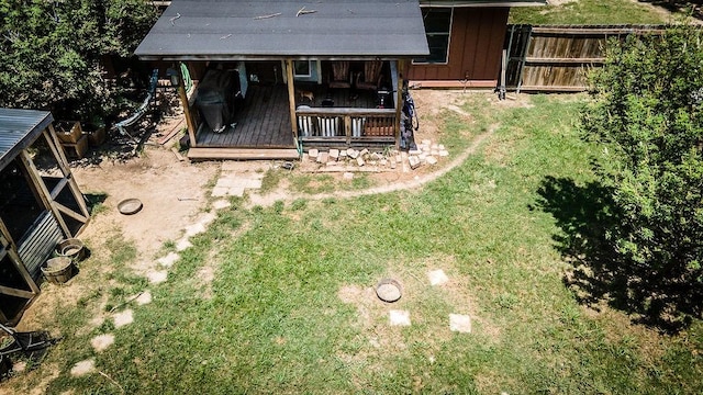
[(579, 302), (598, 309), (606, 302), (636, 323), (663, 332), (677, 332), (700, 316), (701, 290), (671, 273), (651, 270), (616, 252), (609, 235), (622, 226), (611, 192), (599, 182), (577, 184), (572, 179), (547, 177), (536, 206), (557, 221), (557, 249), (572, 268), (563, 282)]

